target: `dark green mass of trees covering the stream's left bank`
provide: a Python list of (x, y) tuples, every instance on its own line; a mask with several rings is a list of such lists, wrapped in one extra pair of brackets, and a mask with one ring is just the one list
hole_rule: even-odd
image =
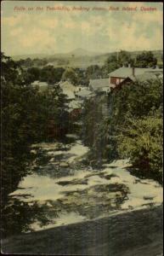
[[(3, 202), (27, 172), (31, 143), (48, 140), (49, 121), (68, 125), (65, 97), (59, 87), (39, 91), (25, 82), (25, 73), (2, 55), (2, 192)], [(65, 122), (63, 121), (65, 120)]]

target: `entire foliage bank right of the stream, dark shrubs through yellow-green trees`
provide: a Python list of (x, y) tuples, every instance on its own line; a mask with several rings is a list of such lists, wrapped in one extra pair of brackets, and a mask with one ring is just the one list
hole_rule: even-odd
[[(156, 79), (113, 90), (107, 117), (97, 111), (99, 100), (87, 104), (84, 142), (92, 148), (93, 159), (129, 158), (138, 173), (161, 182), (162, 89), (162, 81)], [(89, 137), (93, 137), (90, 142)]]

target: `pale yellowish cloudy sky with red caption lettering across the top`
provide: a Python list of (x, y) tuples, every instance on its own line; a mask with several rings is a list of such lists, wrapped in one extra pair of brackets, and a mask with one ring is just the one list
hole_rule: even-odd
[(163, 45), (162, 3), (3, 1), (1, 12), (6, 55), (49, 55), (77, 48), (98, 53), (153, 50)]

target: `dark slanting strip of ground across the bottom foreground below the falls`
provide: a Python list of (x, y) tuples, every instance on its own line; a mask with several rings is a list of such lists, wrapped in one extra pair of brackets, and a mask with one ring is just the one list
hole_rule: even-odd
[(2, 249), (11, 254), (162, 255), (162, 207), (12, 236)]

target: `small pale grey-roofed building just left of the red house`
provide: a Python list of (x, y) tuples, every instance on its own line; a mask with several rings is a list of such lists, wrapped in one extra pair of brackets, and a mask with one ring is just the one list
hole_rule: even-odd
[(109, 79), (90, 79), (89, 90), (108, 93), (110, 91)]

